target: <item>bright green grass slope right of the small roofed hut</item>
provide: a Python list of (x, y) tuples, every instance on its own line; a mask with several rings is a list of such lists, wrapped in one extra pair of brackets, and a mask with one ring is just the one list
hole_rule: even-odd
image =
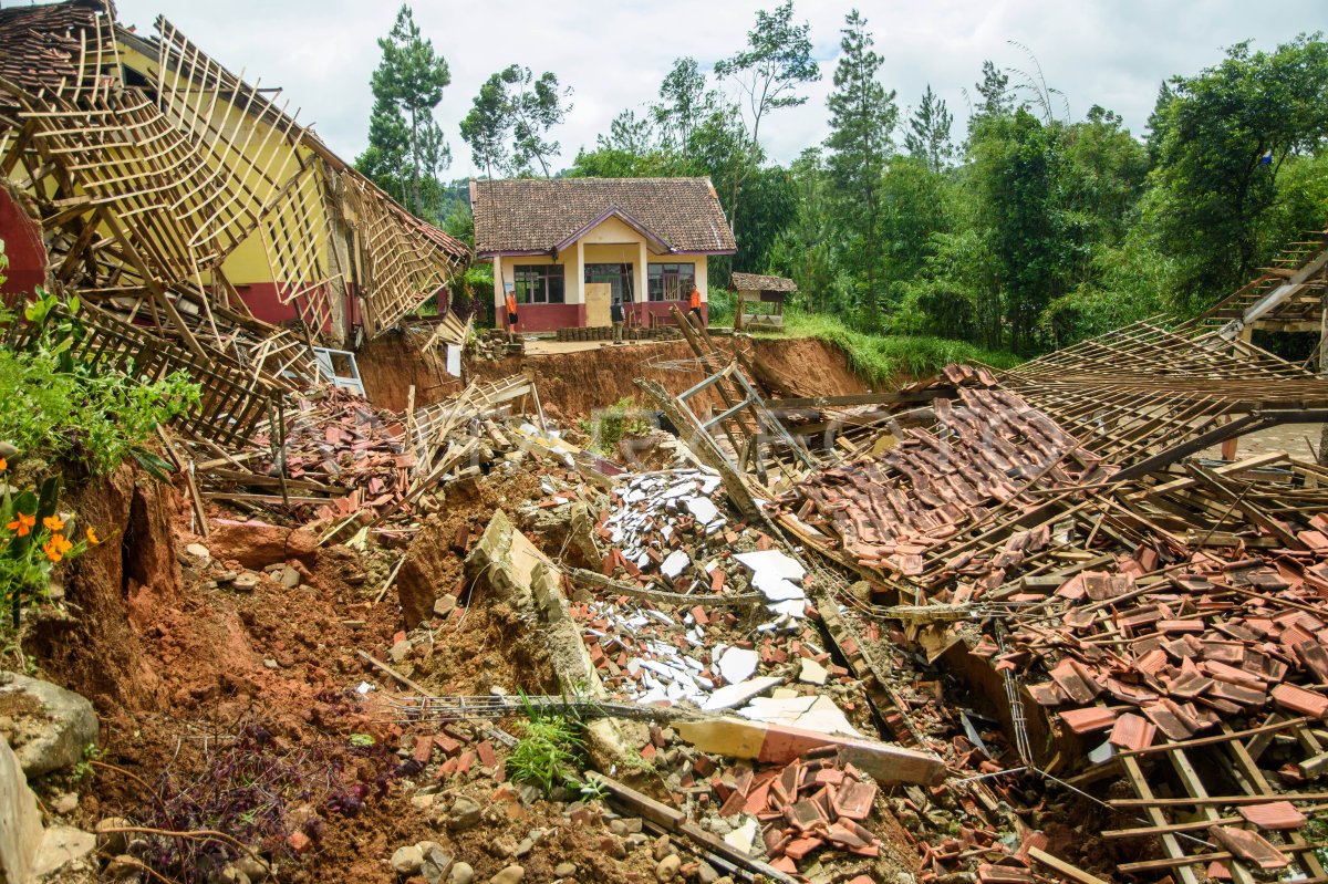
[(951, 362), (1007, 369), (1021, 361), (1012, 353), (987, 350), (967, 341), (912, 334), (866, 334), (837, 316), (786, 312), (784, 333), (757, 337), (814, 337), (838, 346), (849, 365), (871, 386), (884, 386), (935, 374)]

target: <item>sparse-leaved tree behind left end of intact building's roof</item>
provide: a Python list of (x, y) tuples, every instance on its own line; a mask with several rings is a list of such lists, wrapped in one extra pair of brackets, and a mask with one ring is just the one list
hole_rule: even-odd
[(548, 131), (571, 111), (571, 86), (560, 88), (547, 70), (537, 80), (530, 68), (509, 65), (490, 76), (461, 121), (461, 138), (470, 145), (475, 166), (493, 178), (495, 169), (530, 174), (535, 161), (548, 178), (548, 161), (562, 147), (548, 139)]

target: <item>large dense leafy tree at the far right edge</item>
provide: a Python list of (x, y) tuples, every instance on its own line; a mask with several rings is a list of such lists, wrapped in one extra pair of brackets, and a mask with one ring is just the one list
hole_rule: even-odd
[(1154, 218), (1179, 261), (1175, 300), (1198, 308), (1248, 280), (1289, 157), (1328, 138), (1328, 44), (1301, 35), (1275, 52), (1227, 49), (1216, 66), (1173, 77), (1154, 113), (1154, 184), (1166, 195)]

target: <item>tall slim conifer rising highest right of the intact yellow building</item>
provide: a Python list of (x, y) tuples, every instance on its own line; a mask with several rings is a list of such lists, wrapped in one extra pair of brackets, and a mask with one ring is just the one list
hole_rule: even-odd
[(855, 269), (866, 276), (865, 300), (871, 323), (878, 323), (876, 279), (880, 271), (880, 177), (890, 157), (890, 133), (899, 110), (894, 90), (886, 92), (878, 80), (884, 61), (872, 46), (867, 21), (857, 9), (845, 19), (839, 41), (839, 62), (830, 93), (829, 149), (830, 181), (835, 192), (835, 215), (849, 232)]

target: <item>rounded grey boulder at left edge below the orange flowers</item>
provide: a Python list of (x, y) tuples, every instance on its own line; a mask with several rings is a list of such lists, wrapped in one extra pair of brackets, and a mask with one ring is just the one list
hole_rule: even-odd
[(72, 690), (39, 678), (0, 672), (0, 692), (20, 692), (41, 703), (45, 721), (32, 721), (15, 737), (13, 753), (23, 773), (41, 776), (72, 767), (97, 742), (97, 713), (92, 703)]

